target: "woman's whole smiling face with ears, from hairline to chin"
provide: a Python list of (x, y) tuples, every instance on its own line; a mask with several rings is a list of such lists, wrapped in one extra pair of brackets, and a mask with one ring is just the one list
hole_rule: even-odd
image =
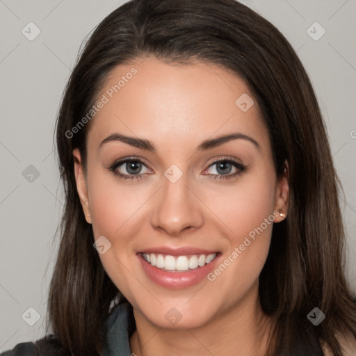
[(199, 327), (256, 298), (288, 184), (248, 86), (215, 65), (146, 58), (116, 67), (98, 100), (76, 184), (134, 311)]

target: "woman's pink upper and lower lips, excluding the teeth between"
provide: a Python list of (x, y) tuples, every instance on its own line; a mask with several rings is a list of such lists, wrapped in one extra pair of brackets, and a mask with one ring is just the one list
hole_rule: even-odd
[[(142, 253), (163, 253), (163, 250), (165, 252), (168, 252), (165, 249), (149, 249), (145, 250), (145, 252)], [(159, 251), (159, 252), (158, 252)], [(184, 251), (182, 253), (181, 251)], [(194, 251), (191, 252), (191, 251)], [(138, 257), (138, 260), (140, 261), (140, 264), (147, 275), (147, 277), (152, 280), (152, 282), (158, 284), (159, 286), (163, 286), (168, 289), (184, 289), (188, 288), (190, 286), (194, 286), (195, 284), (199, 284), (204, 280), (207, 275), (213, 270), (218, 263), (218, 260), (220, 259), (221, 254), (219, 252), (197, 252), (197, 251), (204, 251), (204, 250), (197, 250), (197, 249), (181, 249), (179, 252), (175, 250), (175, 254), (172, 254), (172, 251), (166, 253), (170, 254), (171, 256), (177, 256), (177, 255), (188, 255), (188, 254), (209, 254), (209, 253), (216, 253), (216, 258), (213, 259), (209, 264), (206, 264), (202, 267), (197, 267), (194, 270), (189, 270), (189, 271), (172, 271), (172, 272), (167, 272), (165, 270), (161, 270), (159, 268), (156, 268), (155, 266), (152, 266), (149, 264), (145, 259), (143, 259), (142, 253), (138, 253), (136, 256)], [(191, 252), (191, 253), (188, 253)]]

